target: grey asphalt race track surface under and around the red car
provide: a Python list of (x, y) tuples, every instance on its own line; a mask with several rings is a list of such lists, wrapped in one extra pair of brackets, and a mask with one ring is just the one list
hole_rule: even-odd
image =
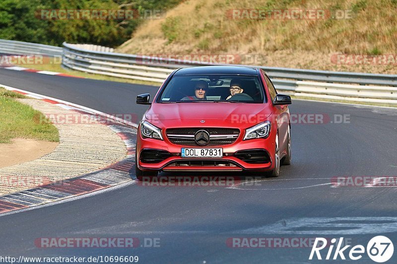
[[(0, 69), (0, 83), (107, 113), (133, 113), (156, 87)], [(228, 238), (397, 242), (396, 187), (332, 187), (334, 176), (397, 176), (397, 109), (293, 101), (292, 114), (349, 115), (347, 123), (292, 125), (293, 161), (281, 176), (228, 188), (133, 184), (0, 216), (0, 256), (138, 256), (141, 263), (311, 263), (311, 248), (230, 248)], [(160, 247), (37, 248), (42, 237), (160, 238)], [(323, 258), (327, 252), (322, 252)], [(348, 254), (345, 254), (348, 255)], [(395, 254), (396, 255), (396, 254)], [(347, 257), (347, 256), (346, 256)], [(348, 257), (347, 257), (348, 258)], [(396, 263), (394, 256), (389, 261)], [(325, 262), (325, 261), (322, 261)], [(340, 262), (340, 259), (337, 261)], [(374, 263), (366, 254), (360, 263)]]

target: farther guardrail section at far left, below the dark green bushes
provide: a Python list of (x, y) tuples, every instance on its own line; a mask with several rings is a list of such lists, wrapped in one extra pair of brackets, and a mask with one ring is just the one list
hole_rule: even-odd
[(62, 47), (22, 41), (0, 40), (0, 53), (16, 55), (41, 54), (47, 56), (61, 56)]

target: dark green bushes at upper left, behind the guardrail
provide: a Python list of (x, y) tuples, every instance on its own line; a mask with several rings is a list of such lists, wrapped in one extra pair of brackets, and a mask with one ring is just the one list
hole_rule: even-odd
[[(181, 0), (136, 0), (122, 9), (166, 10)], [(117, 47), (131, 38), (143, 19), (40, 19), (40, 9), (120, 9), (125, 0), (0, 0), (0, 39), (61, 46), (68, 43), (91, 43)], [(120, 23), (122, 22), (122, 23)]]

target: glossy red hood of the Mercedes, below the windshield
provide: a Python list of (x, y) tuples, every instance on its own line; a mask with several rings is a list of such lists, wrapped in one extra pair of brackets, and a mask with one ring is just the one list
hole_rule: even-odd
[(147, 120), (236, 120), (259, 114), (262, 118), (266, 118), (271, 111), (265, 104), (166, 103), (152, 104), (145, 113), (145, 118)]

